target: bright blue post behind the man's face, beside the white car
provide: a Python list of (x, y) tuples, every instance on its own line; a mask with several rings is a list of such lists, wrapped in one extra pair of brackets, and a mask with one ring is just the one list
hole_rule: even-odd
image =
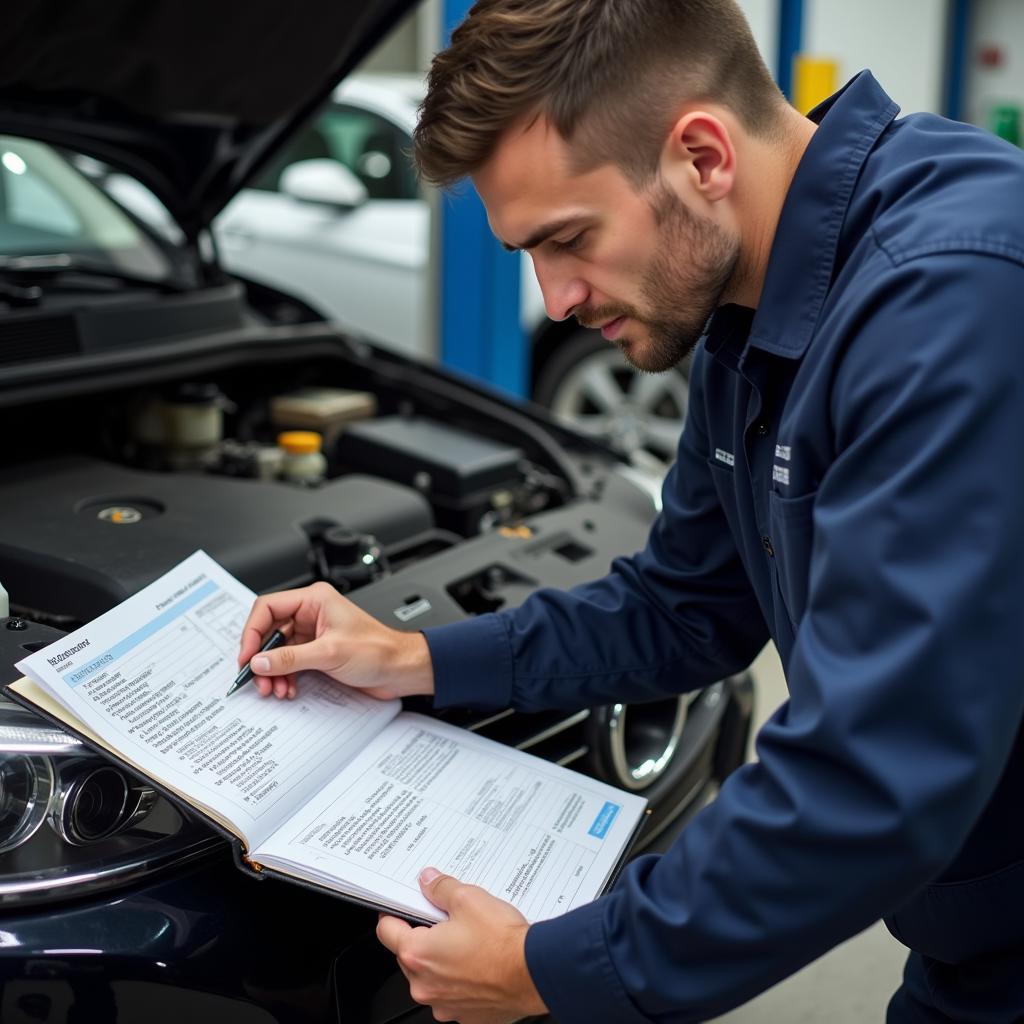
[[(469, 8), (470, 0), (444, 0), (445, 41)], [(525, 396), (529, 351), (519, 318), (521, 256), (506, 252), (495, 240), (469, 181), (442, 196), (437, 209), (441, 362)]]

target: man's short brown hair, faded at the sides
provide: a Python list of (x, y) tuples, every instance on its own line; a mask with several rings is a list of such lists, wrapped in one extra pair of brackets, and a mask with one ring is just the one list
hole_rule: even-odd
[(414, 148), (428, 181), (478, 170), (505, 130), (547, 117), (581, 167), (649, 180), (682, 102), (768, 135), (784, 103), (735, 0), (477, 0), (430, 69)]

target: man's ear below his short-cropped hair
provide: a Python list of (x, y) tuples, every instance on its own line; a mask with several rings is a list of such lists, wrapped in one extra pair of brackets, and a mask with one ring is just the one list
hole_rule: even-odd
[(660, 170), (681, 195), (689, 193), (709, 203), (724, 199), (736, 178), (736, 151), (729, 129), (708, 111), (687, 111), (665, 141)]

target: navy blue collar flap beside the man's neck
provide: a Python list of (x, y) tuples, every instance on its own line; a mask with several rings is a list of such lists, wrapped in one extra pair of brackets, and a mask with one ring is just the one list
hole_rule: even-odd
[(806, 351), (828, 294), (860, 170), (898, 113), (864, 71), (808, 115), (819, 128), (782, 205), (750, 345), (790, 358)]

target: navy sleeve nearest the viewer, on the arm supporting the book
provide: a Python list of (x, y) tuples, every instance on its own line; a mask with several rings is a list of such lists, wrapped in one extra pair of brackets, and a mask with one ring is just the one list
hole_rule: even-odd
[(532, 926), (561, 1024), (716, 1017), (956, 855), (1024, 716), (1024, 269), (891, 267), (849, 310), (791, 696), (660, 858)]

